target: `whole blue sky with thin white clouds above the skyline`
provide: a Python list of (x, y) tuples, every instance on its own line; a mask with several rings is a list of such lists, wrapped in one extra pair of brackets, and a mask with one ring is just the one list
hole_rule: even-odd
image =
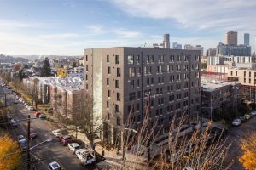
[(250, 34), (255, 0), (0, 0), (0, 54), (84, 55), (84, 48), (170, 42), (216, 48), (226, 31)]

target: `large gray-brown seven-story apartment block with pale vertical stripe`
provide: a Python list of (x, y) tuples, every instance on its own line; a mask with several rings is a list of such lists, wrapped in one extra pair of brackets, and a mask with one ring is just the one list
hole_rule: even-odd
[[(115, 144), (128, 116), (140, 127), (147, 95), (151, 123), (167, 133), (172, 117), (200, 111), (200, 52), (163, 48), (89, 48), (84, 50), (85, 90), (95, 101), (94, 117), (102, 116), (103, 139)], [(189, 121), (188, 120), (188, 121)]]

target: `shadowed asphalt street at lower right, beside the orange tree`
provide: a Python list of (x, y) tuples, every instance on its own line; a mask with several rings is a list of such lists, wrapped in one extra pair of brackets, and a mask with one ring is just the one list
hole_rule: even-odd
[(229, 137), (227, 143), (231, 144), (230, 150), (226, 156), (226, 163), (234, 161), (231, 168), (232, 170), (241, 170), (244, 169), (239, 162), (239, 157), (241, 156), (241, 150), (239, 146), (239, 140), (245, 136), (249, 131), (256, 130), (256, 116), (253, 116), (247, 122), (241, 124), (240, 127), (230, 127)]

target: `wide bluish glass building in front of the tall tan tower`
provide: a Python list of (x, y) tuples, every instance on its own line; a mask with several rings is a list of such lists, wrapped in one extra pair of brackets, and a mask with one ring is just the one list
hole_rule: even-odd
[(226, 45), (218, 42), (216, 48), (217, 55), (236, 55), (236, 56), (249, 56), (251, 55), (251, 47), (246, 45)]

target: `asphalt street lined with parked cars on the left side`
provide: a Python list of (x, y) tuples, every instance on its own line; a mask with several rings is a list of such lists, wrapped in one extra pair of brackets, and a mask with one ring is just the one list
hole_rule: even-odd
[[(33, 116), (34, 111), (28, 111), (21, 103), (14, 104), (13, 100), (14, 96), (9, 94), (9, 105), (14, 106), (14, 110), (12, 111), (13, 114), (11, 115), (19, 122), (18, 127), (10, 128), (13, 138), (16, 139), (19, 134), (24, 134), (26, 136), (27, 115), (30, 115), (31, 118), (35, 118), (35, 116)], [(51, 133), (52, 130), (55, 130), (55, 127), (49, 122), (38, 118), (32, 119), (31, 128), (38, 134), (37, 138), (32, 139), (31, 147), (40, 144), (47, 139), (52, 139), (50, 142), (40, 144), (31, 150), (32, 167), (34, 167), (34, 169), (45, 170), (51, 161), (58, 161), (66, 170), (99, 169), (96, 165), (82, 166), (81, 162), (76, 158), (73, 152), (68, 150), (67, 146), (62, 146), (59, 140)], [(24, 154), (24, 161), (26, 161), (26, 153)], [(24, 164), (26, 165), (26, 162), (24, 162)]]

